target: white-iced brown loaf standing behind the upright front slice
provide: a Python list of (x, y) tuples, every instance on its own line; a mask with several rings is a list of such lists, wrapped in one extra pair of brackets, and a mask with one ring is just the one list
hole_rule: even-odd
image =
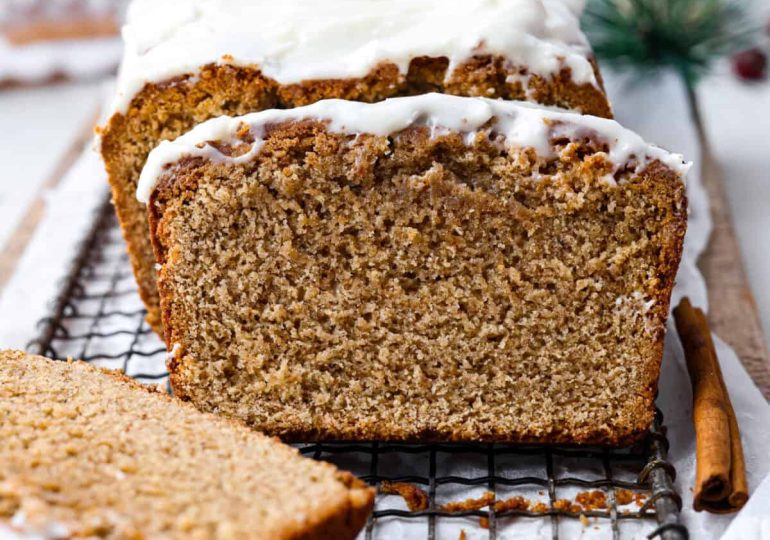
[[(163, 21), (159, 23), (158, 21)], [(221, 115), (326, 98), (447, 94), (611, 116), (579, 13), (562, 0), (137, 0), (101, 151), (148, 320), (156, 273), (136, 182), (161, 140)]]

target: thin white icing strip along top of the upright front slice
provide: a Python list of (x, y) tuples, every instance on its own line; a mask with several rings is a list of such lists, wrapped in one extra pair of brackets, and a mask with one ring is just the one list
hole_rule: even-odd
[[(607, 158), (616, 169), (633, 162), (637, 170), (641, 170), (648, 163), (660, 160), (684, 176), (690, 167), (689, 163), (683, 162), (681, 155), (646, 143), (614, 120), (553, 107), (445, 94), (394, 98), (373, 104), (331, 99), (296, 109), (272, 109), (236, 118), (214, 118), (174, 141), (163, 141), (147, 158), (139, 178), (137, 198), (146, 203), (164, 168), (185, 156), (246, 162), (259, 152), (264, 142), (265, 125), (303, 119), (326, 121), (327, 129), (337, 133), (384, 136), (411, 126), (428, 126), (434, 133), (448, 130), (468, 134), (468, 140), (472, 140), (479, 129), (491, 122), (494, 130), (505, 137), (506, 147), (533, 148), (543, 157), (553, 156), (551, 140), (555, 137), (571, 140), (591, 137), (607, 144)], [(249, 126), (254, 138), (248, 152), (230, 157), (208, 144), (209, 141), (237, 142), (237, 132), (243, 124)], [(614, 179), (610, 180), (614, 182)]]

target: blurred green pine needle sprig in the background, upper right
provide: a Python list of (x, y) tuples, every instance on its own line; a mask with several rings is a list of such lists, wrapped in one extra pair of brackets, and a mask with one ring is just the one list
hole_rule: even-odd
[(621, 68), (678, 71), (688, 85), (718, 58), (751, 45), (746, 0), (588, 0), (583, 25), (596, 56)]

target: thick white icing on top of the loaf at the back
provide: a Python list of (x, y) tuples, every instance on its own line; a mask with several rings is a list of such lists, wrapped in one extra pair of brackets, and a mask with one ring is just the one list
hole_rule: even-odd
[(113, 104), (125, 112), (147, 82), (206, 64), (258, 65), (288, 84), (362, 77), (381, 61), (499, 54), (530, 73), (563, 67), (597, 85), (580, 30), (583, 0), (134, 0)]

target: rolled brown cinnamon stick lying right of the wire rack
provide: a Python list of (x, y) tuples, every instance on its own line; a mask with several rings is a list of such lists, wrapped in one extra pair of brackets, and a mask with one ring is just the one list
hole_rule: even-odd
[(695, 424), (696, 511), (736, 512), (748, 500), (746, 465), (730, 396), (727, 393), (706, 316), (688, 298), (674, 309), (687, 361)]

